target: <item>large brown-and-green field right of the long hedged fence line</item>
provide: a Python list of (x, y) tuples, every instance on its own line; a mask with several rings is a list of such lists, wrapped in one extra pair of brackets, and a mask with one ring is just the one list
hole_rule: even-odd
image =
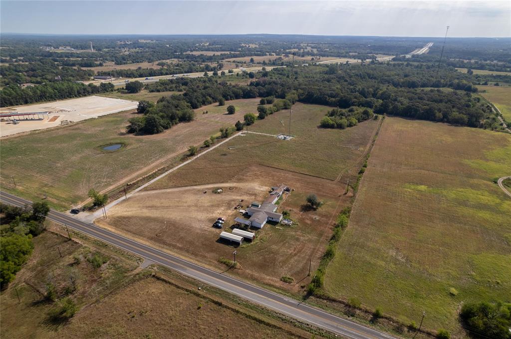
[(453, 332), (463, 302), (509, 302), (511, 199), (493, 180), (510, 159), (503, 133), (385, 119), (326, 293)]

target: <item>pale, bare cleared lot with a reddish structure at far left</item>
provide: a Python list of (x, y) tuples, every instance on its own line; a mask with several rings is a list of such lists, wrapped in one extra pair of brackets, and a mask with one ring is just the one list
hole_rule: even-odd
[(137, 101), (92, 95), (77, 99), (39, 103), (37, 105), (3, 108), (1, 109), (3, 113), (48, 112), (49, 115), (44, 115), (45, 118), (43, 120), (23, 120), (24, 117), (19, 117), (17, 118), (19, 120), (18, 124), (2, 121), (0, 122), (0, 137), (59, 126), (64, 120), (76, 122), (132, 110), (137, 105)]

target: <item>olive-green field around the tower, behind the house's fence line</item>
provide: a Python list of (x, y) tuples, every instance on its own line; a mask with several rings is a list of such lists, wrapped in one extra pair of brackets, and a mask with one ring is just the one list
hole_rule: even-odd
[[(203, 111), (204, 108), (199, 110)], [(293, 106), (291, 126), (291, 134), (295, 138), (292, 140), (283, 141), (251, 133), (237, 137), (210, 153), (214, 156), (199, 158), (188, 165), (187, 175), (169, 175), (156, 181), (151, 188), (175, 186), (177, 181), (181, 182), (181, 186), (193, 185), (195, 182), (200, 184), (203, 183), (204, 173), (225, 167), (225, 164), (239, 169), (257, 163), (333, 180), (344, 171), (344, 180), (348, 176), (353, 177), (358, 171), (355, 165), (363, 156), (378, 122), (365, 121), (344, 130), (318, 128), (319, 121), (328, 110), (326, 106), (296, 103)], [(281, 120), (285, 122), (284, 125)], [(248, 131), (287, 133), (288, 121), (289, 111), (281, 111), (256, 121), (248, 127)], [(179, 172), (184, 173), (185, 169), (176, 171)], [(222, 173), (218, 173), (218, 176), (222, 176)]]

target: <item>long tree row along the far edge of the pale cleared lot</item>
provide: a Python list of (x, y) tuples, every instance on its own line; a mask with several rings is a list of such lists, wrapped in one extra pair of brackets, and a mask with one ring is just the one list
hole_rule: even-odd
[(114, 86), (111, 83), (102, 83), (99, 86), (69, 81), (45, 83), (34, 87), (6, 86), (0, 91), (0, 106), (25, 105), (40, 101), (52, 101), (98, 93), (111, 92)]

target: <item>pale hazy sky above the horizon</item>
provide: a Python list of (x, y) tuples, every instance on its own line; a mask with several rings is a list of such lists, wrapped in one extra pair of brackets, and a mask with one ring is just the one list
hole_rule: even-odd
[(0, 32), (511, 37), (511, 1), (4, 1)]

